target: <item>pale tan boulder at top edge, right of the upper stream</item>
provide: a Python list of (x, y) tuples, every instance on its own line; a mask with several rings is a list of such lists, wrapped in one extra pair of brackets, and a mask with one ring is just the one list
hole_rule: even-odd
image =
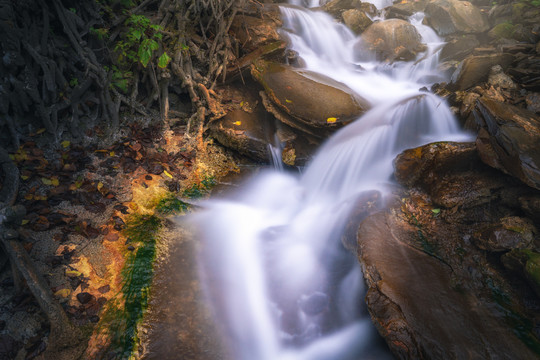
[(468, 1), (434, 0), (427, 4), (425, 12), (427, 23), (441, 36), (489, 30), (487, 17)]

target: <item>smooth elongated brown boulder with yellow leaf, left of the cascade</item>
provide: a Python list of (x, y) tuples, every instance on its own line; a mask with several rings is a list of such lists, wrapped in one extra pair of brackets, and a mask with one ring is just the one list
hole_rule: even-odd
[(370, 107), (346, 85), (311, 71), (257, 61), (251, 74), (271, 102), (293, 119), (288, 125), (300, 130), (335, 129)]

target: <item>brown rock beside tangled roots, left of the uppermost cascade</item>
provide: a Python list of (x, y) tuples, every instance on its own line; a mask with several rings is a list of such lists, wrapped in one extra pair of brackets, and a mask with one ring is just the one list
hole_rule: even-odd
[(230, 28), (242, 49), (252, 52), (265, 44), (280, 40), (277, 32), (281, 26), (279, 14), (265, 13), (264, 16), (237, 15)]

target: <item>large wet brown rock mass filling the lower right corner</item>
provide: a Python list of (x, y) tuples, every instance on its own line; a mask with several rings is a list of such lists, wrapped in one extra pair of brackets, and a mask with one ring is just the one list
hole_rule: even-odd
[(538, 191), (471, 143), (407, 150), (395, 168), (408, 190), (358, 231), (368, 309), (394, 354), (537, 358), (538, 222), (521, 203)]

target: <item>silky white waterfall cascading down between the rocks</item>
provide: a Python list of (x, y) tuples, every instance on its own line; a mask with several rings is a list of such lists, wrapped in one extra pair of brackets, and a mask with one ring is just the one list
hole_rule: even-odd
[(233, 359), (384, 359), (373, 346), (360, 267), (341, 235), (359, 194), (384, 191), (398, 153), (467, 138), (445, 102), (419, 90), (440, 79), (442, 41), (415, 15), (426, 53), (378, 63), (355, 53), (358, 39), (327, 14), (281, 11), (306, 68), (345, 83), (372, 109), (334, 134), (301, 176), (268, 169), (207, 202), (194, 217), (202, 279)]

